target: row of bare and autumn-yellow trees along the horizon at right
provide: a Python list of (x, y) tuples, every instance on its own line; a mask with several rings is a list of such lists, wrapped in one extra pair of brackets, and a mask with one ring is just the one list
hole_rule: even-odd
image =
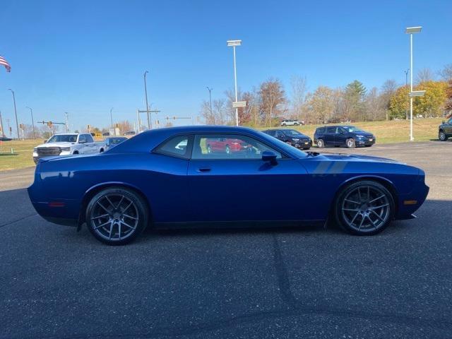
[[(415, 117), (441, 117), (452, 111), (452, 64), (434, 73), (422, 69), (417, 73), (413, 90), (426, 90), (423, 97), (413, 100)], [(238, 100), (246, 101), (239, 108), (242, 126), (277, 126), (282, 119), (299, 119), (306, 124), (327, 124), (341, 121), (377, 121), (408, 119), (410, 110), (410, 85), (400, 85), (388, 80), (380, 88), (364, 87), (352, 81), (345, 87), (331, 88), (320, 85), (309, 91), (307, 78), (292, 76), (290, 95), (278, 78), (267, 81), (251, 90), (238, 91)], [(204, 100), (201, 116), (206, 124), (234, 124), (235, 100), (233, 90), (212, 101)]]

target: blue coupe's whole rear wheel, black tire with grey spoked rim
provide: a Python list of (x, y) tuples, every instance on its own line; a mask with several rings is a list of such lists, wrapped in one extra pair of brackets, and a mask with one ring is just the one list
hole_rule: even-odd
[[(105, 216), (100, 217), (100, 213)], [(148, 206), (141, 196), (130, 189), (109, 187), (91, 198), (85, 220), (88, 230), (100, 242), (125, 245), (133, 242), (148, 225)], [(118, 237), (115, 237), (116, 234)]]

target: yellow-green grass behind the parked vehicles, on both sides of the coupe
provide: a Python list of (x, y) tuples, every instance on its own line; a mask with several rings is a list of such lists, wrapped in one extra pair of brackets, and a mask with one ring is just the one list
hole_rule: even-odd
[[(415, 141), (428, 141), (438, 138), (438, 125), (442, 119), (415, 119), (413, 121)], [(410, 121), (371, 121), (357, 122), (353, 125), (374, 133), (377, 143), (399, 143), (410, 138)], [(296, 126), (295, 129), (311, 138), (321, 125)], [(287, 127), (287, 128), (292, 128)], [(265, 128), (261, 128), (265, 129)], [(32, 149), (42, 140), (4, 141), (0, 145), (0, 171), (34, 166)], [(8, 155), (13, 148), (17, 155)]]

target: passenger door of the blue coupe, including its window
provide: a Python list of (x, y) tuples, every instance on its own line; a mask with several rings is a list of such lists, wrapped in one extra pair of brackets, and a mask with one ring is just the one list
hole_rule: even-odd
[[(207, 153), (210, 138), (238, 139), (251, 145), (243, 151)], [(262, 160), (272, 150), (278, 165)], [(189, 162), (188, 181), (193, 220), (237, 222), (302, 220), (309, 192), (303, 189), (307, 172), (299, 160), (254, 136), (198, 134)]]

